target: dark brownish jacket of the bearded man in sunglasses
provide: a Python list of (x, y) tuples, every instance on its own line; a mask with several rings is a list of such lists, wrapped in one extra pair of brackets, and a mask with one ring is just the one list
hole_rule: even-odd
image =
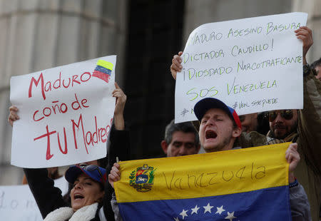
[(312, 74), (303, 78), (303, 109), (298, 112), (297, 131), (282, 140), (272, 133), (243, 134), (238, 145), (243, 148), (272, 143), (296, 142), (300, 163), (295, 168), (297, 180), (305, 188), (313, 221), (319, 220), (321, 207), (321, 81)]

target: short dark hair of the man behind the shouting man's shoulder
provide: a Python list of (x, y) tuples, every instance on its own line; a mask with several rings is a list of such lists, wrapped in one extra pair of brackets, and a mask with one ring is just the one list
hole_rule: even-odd
[(176, 131), (180, 131), (183, 133), (193, 133), (195, 135), (195, 147), (197, 147), (200, 143), (200, 138), (198, 138), (198, 132), (195, 130), (193, 124), (191, 122), (183, 122), (183, 123), (174, 123), (174, 120), (170, 121), (165, 128), (165, 136), (164, 140), (166, 143), (170, 144), (172, 142), (173, 133)]

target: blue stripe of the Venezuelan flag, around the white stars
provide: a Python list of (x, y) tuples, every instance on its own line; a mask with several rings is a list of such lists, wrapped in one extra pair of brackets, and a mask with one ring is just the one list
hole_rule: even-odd
[[(225, 211), (219, 214), (220, 207)], [(119, 208), (123, 220), (225, 220), (228, 212), (233, 221), (291, 220), (288, 186), (193, 199), (123, 202)]]

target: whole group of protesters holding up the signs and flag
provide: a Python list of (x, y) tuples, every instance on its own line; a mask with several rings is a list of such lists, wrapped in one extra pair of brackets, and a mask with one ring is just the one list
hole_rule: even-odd
[[(165, 128), (161, 148), (167, 157), (205, 153), (291, 141), (285, 153), (289, 166), (290, 207), (292, 220), (319, 220), (321, 186), (321, 58), (308, 65), (306, 54), (312, 46), (312, 31), (295, 31), (303, 43), (302, 110), (277, 110), (240, 115), (215, 98), (195, 104), (198, 120)], [(181, 71), (182, 52), (173, 56), (170, 71), (176, 78)], [(126, 95), (116, 85), (114, 122), (106, 158), (73, 165), (66, 171), (70, 184), (63, 197), (54, 187), (49, 170), (24, 169), (26, 180), (45, 220), (122, 220), (113, 194), (113, 183), (120, 180), (121, 160), (130, 159), (129, 132), (125, 129), (123, 108)], [(19, 110), (11, 106), (9, 123), (19, 120)], [(108, 180), (108, 182), (107, 182)]]

